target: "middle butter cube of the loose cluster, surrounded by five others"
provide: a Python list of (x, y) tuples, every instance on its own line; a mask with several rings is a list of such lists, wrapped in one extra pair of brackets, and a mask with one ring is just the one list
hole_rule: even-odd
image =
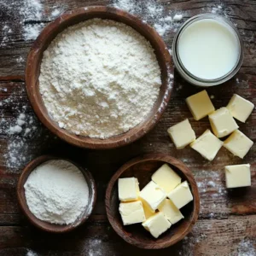
[(217, 137), (225, 137), (239, 128), (228, 108), (219, 108), (209, 115), (209, 119)]

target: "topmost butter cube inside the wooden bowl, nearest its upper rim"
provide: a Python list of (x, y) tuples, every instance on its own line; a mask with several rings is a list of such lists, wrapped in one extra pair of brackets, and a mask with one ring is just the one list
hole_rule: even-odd
[(157, 183), (166, 193), (171, 192), (172, 189), (181, 183), (181, 177), (179, 177), (167, 164), (161, 166), (154, 172), (151, 178), (154, 183)]

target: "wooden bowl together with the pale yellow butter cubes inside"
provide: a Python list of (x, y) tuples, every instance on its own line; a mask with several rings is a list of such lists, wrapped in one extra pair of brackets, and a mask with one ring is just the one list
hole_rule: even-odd
[(192, 172), (167, 154), (146, 154), (121, 166), (108, 183), (105, 202), (113, 230), (144, 249), (182, 240), (200, 211)]

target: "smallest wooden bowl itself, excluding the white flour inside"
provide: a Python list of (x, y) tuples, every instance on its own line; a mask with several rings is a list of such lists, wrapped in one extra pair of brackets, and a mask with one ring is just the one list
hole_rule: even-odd
[(73, 224), (67, 224), (67, 225), (61, 225), (61, 224), (50, 224), (48, 222), (44, 222), (38, 218), (36, 218), (32, 212), (30, 212), (29, 208), (27, 207), (26, 204), (26, 197), (25, 197), (25, 189), (24, 189), (24, 184), (26, 183), (27, 177), (31, 174), (31, 172), (39, 165), (42, 163), (48, 161), (48, 160), (66, 160), (66, 159), (61, 159), (57, 158), (54, 156), (49, 156), (49, 155), (42, 155), (35, 160), (32, 160), (22, 171), (19, 181), (18, 181), (18, 186), (17, 186), (17, 195), (18, 195), (18, 202), (20, 204), (21, 210), (25, 213), (26, 217), (29, 219), (29, 221), (34, 224), (36, 227), (38, 227), (40, 230), (52, 232), (52, 233), (64, 233), (64, 232), (69, 232), (71, 230), (74, 230), (77, 228), (79, 225), (83, 224), (87, 218), (90, 217), (91, 212), (93, 211), (93, 208), (95, 207), (96, 204), (96, 184), (91, 176), (90, 172), (81, 166), (77, 165), (71, 160), (67, 160), (73, 165), (77, 166), (79, 170), (83, 173), (84, 178), (88, 184), (88, 189), (89, 189), (89, 202), (88, 206), (85, 209), (85, 212), (82, 217), (80, 217), (78, 220), (76, 220)]

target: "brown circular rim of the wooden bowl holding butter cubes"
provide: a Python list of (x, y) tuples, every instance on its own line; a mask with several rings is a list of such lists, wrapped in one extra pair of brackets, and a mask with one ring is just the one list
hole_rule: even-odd
[[(177, 167), (177, 169), (183, 173), (183, 175), (186, 177), (186, 180), (190, 184), (191, 192), (194, 197), (193, 204), (194, 204), (194, 210), (191, 213), (191, 218), (189, 221), (189, 226), (183, 230), (183, 232), (180, 234), (180, 236), (177, 237), (175, 240), (166, 240), (163, 241), (162, 243), (153, 243), (152, 244), (145, 244), (142, 243), (141, 241), (137, 241), (133, 239), (131, 236), (127, 236), (125, 232), (122, 229), (119, 229), (117, 225), (115, 225), (112, 214), (111, 214), (111, 195), (113, 193), (113, 187), (115, 183), (117, 182), (118, 178), (131, 166), (136, 165), (137, 163), (141, 163), (143, 161), (148, 161), (148, 160), (160, 160), (163, 162), (166, 162), (167, 164), (170, 164), (172, 166)], [(179, 167), (177, 164), (179, 164)], [(183, 167), (183, 170), (180, 168), (180, 166)], [(187, 172), (187, 173), (184, 173)], [(137, 158), (134, 158), (128, 162), (126, 162), (123, 166), (119, 168), (117, 172), (114, 173), (113, 177), (110, 179), (108, 183), (108, 188), (106, 191), (106, 198), (105, 198), (105, 205), (106, 205), (106, 211), (107, 211), (107, 216), (108, 216), (108, 221), (112, 225), (113, 230), (117, 232), (117, 234), (122, 237), (125, 241), (129, 242), (130, 244), (140, 247), (143, 249), (162, 249), (166, 247), (170, 247), (177, 243), (177, 241), (181, 241), (185, 236), (189, 234), (189, 232), (192, 230), (193, 226), (195, 225), (195, 222), (197, 221), (199, 217), (199, 212), (200, 212), (200, 195), (199, 191), (197, 188), (197, 184), (195, 182), (195, 178), (193, 173), (189, 170), (189, 167), (184, 165), (181, 160), (177, 160), (176, 158), (168, 155), (168, 154), (161, 154), (161, 153), (156, 153), (156, 154), (143, 154), (142, 156), (138, 156)], [(143, 228), (143, 227), (142, 227)], [(157, 241), (157, 240), (156, 240)]]

